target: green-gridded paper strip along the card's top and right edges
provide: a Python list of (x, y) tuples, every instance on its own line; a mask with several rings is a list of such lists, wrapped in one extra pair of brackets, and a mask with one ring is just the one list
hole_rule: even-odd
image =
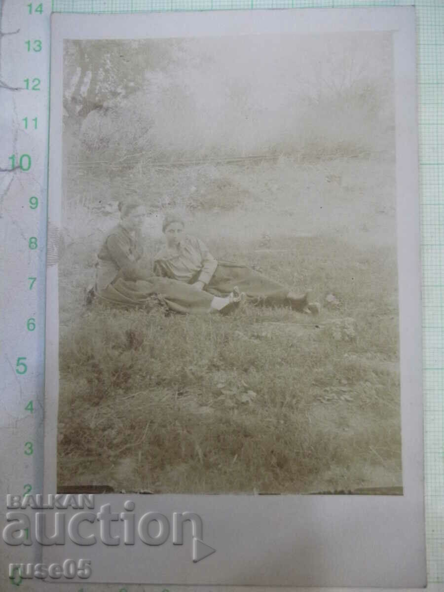
[(444, 582), (444, 0), (53, 0), (54, 12), (116, 13), (415, 4), (423, 262), (427, 574)]

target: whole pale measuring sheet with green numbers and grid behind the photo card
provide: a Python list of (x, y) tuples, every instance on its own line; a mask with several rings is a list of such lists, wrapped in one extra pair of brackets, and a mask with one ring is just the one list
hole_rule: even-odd
[[(51, 12), (411, 4), (408, 0), (0, 0), (0, 224), (4, 233), (0, 447), (8, 451), (2, 458), (0, 495), (42, 491)], [(429, 583), (439, 584), (444, 582), (444, 1), (417, 0), (416, 15), (427, 571)], [(2, 590), (12, 589), (5, 577), (8, 552), (4, 549)], [(33, 560), (38, 550), (31, 546), (26, 552), (21, 561)], [(104, 589), (91, 584), (87, 588)], [(108, 589), (124, 588), (110, 585)]]

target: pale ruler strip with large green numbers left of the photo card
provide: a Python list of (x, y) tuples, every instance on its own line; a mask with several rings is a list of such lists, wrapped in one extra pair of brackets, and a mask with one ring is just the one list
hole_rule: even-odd
[[(49, 0), (0, 2), (2, 500), (43, 487), (50, 13)], [(2, 590), (13, 561), (4, 547)], [(38, 552), (24, 548), (24, 561)]]

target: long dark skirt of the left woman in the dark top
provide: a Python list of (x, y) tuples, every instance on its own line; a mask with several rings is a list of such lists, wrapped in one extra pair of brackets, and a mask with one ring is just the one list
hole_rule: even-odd
[(140, 308), (149, 307), (153, 297), (160, 297), (176, 313), (191, 314), (208, 313), (213, 300), (213, 295), (189, 284), (156, 276), (137, 281), (117, 278), (106, 288), (96, 290), (96, 295), (110, 304)]

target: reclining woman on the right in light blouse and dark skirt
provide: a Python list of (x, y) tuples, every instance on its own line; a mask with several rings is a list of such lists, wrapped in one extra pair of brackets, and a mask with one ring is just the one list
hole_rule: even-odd
[(309, 302), (308, 292), (297, 295), (246, 265), (217, 261), (200, 239), (184, 233), (184, 226), (184, 221), (177, 215), (168, 215), (163, 221), (166, 244), (155, 257), (157, 276), (191, 285), (197, 293), (205, 291), (224, 296), (237, 286), (254, 304), (319, 312), (319, 305)]

